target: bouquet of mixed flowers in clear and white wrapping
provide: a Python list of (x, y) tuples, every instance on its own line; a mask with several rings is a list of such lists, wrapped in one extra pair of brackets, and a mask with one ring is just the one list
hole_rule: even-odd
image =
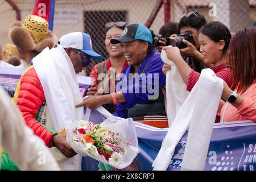
[[(125, 135), (125, 122), (113, 122), (113, 118), (94, 124), (81, 120), (67, 132), (68, 142), (77, 154), (90, 156), (116, 168), (129, 166), (138, 154), (130, 137)], [(69, 134), (68, 134), (69, 133)]]

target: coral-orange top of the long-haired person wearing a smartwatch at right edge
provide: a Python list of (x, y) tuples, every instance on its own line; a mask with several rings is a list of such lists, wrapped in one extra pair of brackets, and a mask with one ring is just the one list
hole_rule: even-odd
[(245, 121), (256, 122), (256, 82), (241, 96), (245, 99), (239, 107), (226, 103), (221, 109), (221, 122)]

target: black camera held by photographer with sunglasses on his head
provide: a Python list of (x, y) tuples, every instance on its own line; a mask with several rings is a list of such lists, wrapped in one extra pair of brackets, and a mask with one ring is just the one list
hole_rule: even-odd
[(188, 42), (192, 43), (195, 46), (195, 40), (191, 32), (183, 32), (175, 37), (170, 37), (167, 40), (167, 46), (177, 47), (179, 49), (183, 49), (187, 47), (187, 44), (184, 44), (182, 40), (185, 39)]

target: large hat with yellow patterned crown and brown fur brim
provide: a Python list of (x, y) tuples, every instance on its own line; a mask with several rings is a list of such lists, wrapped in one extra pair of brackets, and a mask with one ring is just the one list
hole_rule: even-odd
[(48, 30), (48, 22), (36, 15), (29, 15), (24, 22), (16, 21), (11, 26), (9, 37), (24, 51), (42, 52), (44, 48), (53, 48), (57, 36)]

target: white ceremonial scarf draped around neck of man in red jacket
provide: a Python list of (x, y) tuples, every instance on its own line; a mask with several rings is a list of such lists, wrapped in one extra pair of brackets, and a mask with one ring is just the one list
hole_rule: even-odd
[[(55, 131), (73, 125), (83, 118), (83, 107), (75, 108), (82, 102), (79, 84), (73, 64), (65, 50), (45, 48), (33, 59), (33, 65), (43, 86), (46, 97), (46, 126)], [(65, 158), (56, 147), (51, 151), (63, 170), (81, 170), (81, 156)]]

